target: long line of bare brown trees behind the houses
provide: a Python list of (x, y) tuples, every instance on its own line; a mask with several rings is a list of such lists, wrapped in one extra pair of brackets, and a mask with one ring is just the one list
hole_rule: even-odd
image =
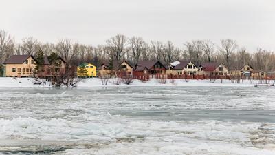
[(192, 40), (183, 43), (179, 48), (171, 41), (146, 42), (142, 37), (126, 37), (118, 34), (107, 39), (104, 45), (92, 46), (70, 39), (61, 39), (57, 43), (41, 43), (33, 37), (23, 38), (22, 43), (16, 43), (8, 32), (0, 31), (0, 64), (13, 54), (35, 56), (41, 50), (45, 55), (56, 53), (62, 56), (70, 65), (85, 62), (100, 65), (103, 61), (122, 59), (133, 64), (140, 60), (159, 60), (167, 65), (177, 60), (191, 60), (196, 65), (203, 62), (219, 62), (230, 69), (250, 64), (256, 70), (275, 70), (274, 52), (263, 48), (248, 52), (233, 39), (221, 39), (217, 44), (209, 39)]

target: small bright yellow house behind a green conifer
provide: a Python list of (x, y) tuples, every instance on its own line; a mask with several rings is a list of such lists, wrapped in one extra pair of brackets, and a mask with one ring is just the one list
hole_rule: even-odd
[[(85, 68), (85, 70), (83, 70), (82, 68)], [(78, 65), (77, 75), (80, 77), (83, 77), (83, 76), (95, 77), (96, 66), (91, 63), (83, 63), (81, 65)]]

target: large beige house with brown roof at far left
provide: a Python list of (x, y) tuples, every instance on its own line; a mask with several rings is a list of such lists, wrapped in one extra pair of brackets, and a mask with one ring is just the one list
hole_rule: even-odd
[(32, 55), (13, 55), (3, 63), (4, 76), (28, 77), (33, 76), (36, 61)]

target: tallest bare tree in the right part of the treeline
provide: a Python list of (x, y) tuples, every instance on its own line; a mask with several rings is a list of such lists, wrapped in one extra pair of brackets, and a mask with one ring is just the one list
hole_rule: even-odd
[(236, 48), (238, 48), (236, 41), (232, 39), (221, 39), (221, 47), (219, 50), (225, 57), (227, 66), (230, 66), (230, 57)]

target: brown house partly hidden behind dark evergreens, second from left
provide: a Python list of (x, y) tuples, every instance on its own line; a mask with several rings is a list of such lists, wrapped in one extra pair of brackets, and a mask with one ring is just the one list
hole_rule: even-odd
[(58, 57), (58, 65), (58, 68), (54, 69), (54, 67), (50, 64), (49, 59), (47, 59), (47, 56), (44, 56), (44, 65), (43, 68), (41, 68), (41, 71), (38, 73), (38, 76), (47, 77), (53, 76), (54, 74), (64, 74), (66, 62), (60, 56)]

